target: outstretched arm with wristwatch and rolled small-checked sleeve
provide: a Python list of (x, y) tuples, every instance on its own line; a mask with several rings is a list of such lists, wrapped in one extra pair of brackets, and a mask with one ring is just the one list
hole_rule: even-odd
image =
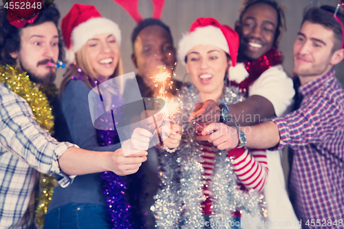
[[(343, 131), (341, 129), (343, 116), (340, 107), (327, 102), (325, 98), (316, 97), (308, 106), (283, 118), (275, 118), (252, 127), (241, 127), (241, 131), (246, 134), (247, 147), (280, 149), (288, 145), (295, 149), (298, 146), (331, 140), (334, 135)], [(208, 140), (214, 141), (219, 149), (233, 149), (238, 143), (237, 131), (219, 123), (209, 124), (202, 134), (208, 135)]]

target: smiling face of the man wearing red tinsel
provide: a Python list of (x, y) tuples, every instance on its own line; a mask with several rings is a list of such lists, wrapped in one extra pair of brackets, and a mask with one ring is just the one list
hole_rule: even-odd
[(271, 50), (277, 29), (277, 11), (257, 3), (242, 15), (239, 25), (240, 51), (245, 58), (257, 60)]

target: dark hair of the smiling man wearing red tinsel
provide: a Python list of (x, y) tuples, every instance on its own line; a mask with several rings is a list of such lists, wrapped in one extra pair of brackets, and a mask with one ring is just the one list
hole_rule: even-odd
[(287, 25), (286, 25), (286, 17), (284, 15), (284, 9), (279, 3), (277, 3), (275, 0), (246, 0), (244, 1), (244, 9), (240, 12), (239, 21), (241, 23), (242, 17), (245, 14), (245, 12), (250, 8), (251, 6), (255, 6), (256, 4), (266, 4), (268, 6), (271, 6), (274, 8), (277, 12), (277, 27), (275, 32), (275, 39), (274, 43), (277, 45), (277, 42), (281, 39), (281, 34), (284, 31), (287, 31)]

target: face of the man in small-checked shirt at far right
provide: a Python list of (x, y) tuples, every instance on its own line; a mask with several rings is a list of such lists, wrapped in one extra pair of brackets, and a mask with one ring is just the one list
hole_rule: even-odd
[[(334, 32), (305, 21), (294, 43), (294, 72), (300, 79), (318, 78), (333, 67)], [(308, 80), (307, 80), (308, 81)]]

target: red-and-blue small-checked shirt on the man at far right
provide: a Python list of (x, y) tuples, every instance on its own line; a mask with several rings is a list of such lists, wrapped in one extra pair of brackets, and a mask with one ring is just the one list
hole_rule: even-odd
[[(344, 91), (332, 69), (325, 76), (302, 85), (299, 92), (303, 95), (301, 107), (272, 120), (281, 136), (278, 148), (288, 145), (294, 150), (290, 199), (303, 228), (319, 226), (317, 219), (321, 228), (342, 228)], [(312, 219), (315, 224), (311, 223)]]

